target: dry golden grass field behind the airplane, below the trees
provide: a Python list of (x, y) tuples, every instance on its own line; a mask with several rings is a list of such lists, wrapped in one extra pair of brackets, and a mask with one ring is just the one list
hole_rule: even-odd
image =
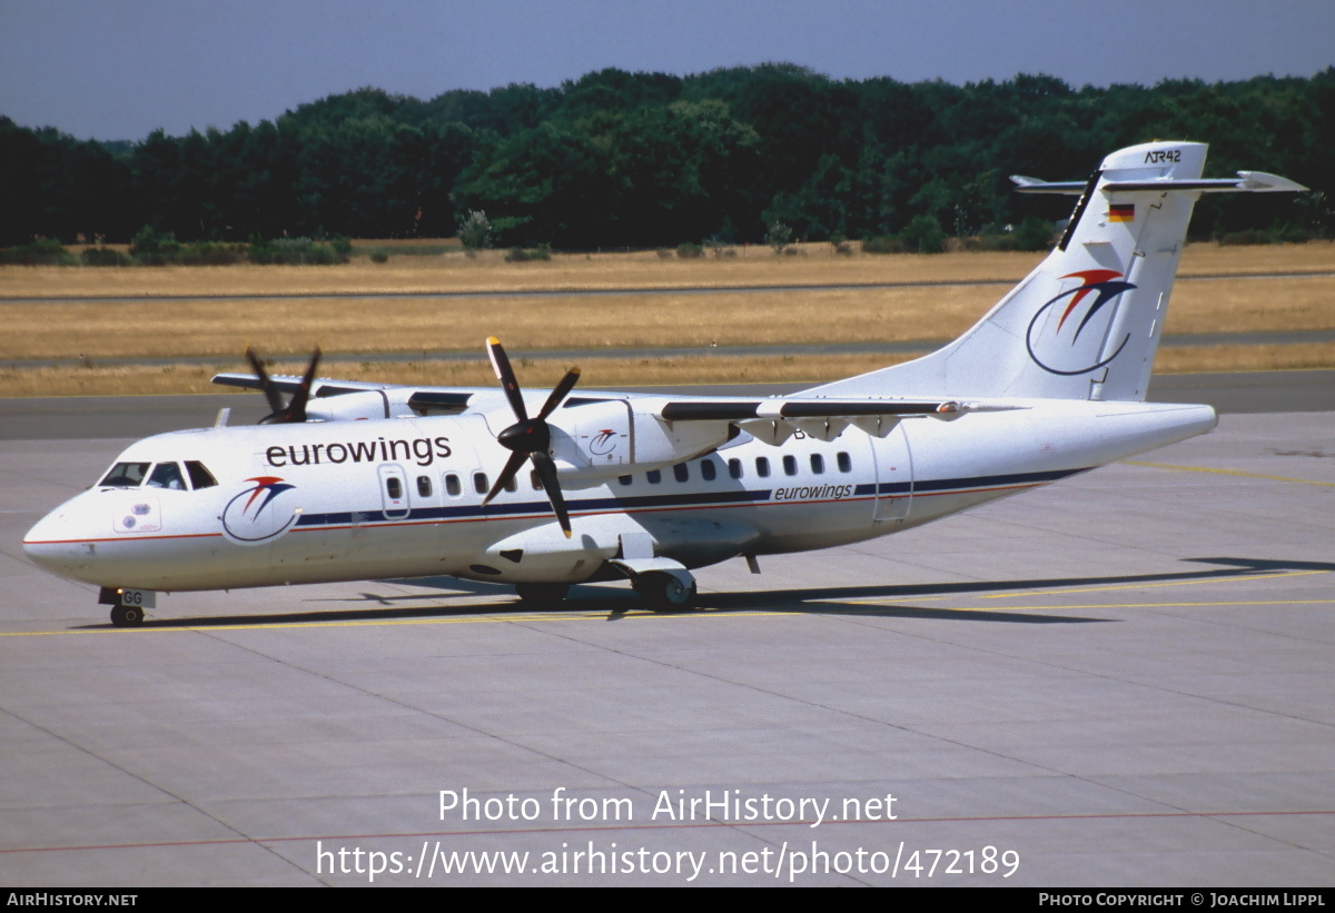
[[(410, 383), (491, 383), (487, 335), (531, 352), (527, 383), (554, 380), (565, 364), (541, 350), (913, 342), (948, 339), (972, 324), (1037, 260), (1036, 254), (836, 256), (828, 244), (776, 258), (662, 259), (655, 252), (554, 255), (506, 263), (489, 251), (470, 259), (391, 258), (338, 267), (4, 267), (0, 268), (0, 362), (80, 358), (77, 368), (0, 367), (0, 395), (162, 392), (215, 388), (210, 368), (103, 367), (107, 358), (216, 358), (239, 367), (254, 344), (267, 355), (477, 351), (474, 363), (430, 358), (406, 364), (338, 364), (328, 374)], [(1283, 247), (1191, 246), (1165, 332), (1335, 330), (1330, 243)], [(1260, 278), (1260, 274), (1287, 274)], [(848, 288), (868, 283), (984, 282), (976, 286)], [(789, 291), (778, 286), (806, 286)], [(810, 288), (810, 287), (817, 288)], [(845, 287), (838, 287), (845, 286)], [(757, 288), (772, 287), (772, 291)], [(598, 290), (697, 290), (579, 294)], [(736, 291), (741, 288), (742, 291)], [(734, 291), (729, 291), (734, 290)], [(378, 298), (395, 292), (470, 291), (471, 298)], [(507, 291), (562, 291), (514, 296)], [(493, 292), (493, 294), (487, 294)], [(367, 295), (338, 298), (335, 295)], [(171, 296), (186, 296), (171, 299)], [(202, 295), (238, 296), (223, 300)], [(279, 295), (279, 298), (262, 298)], [(306, 295), (307, 298), (282, 298)], [(52, 300), (127, 296), (115, 302)], [(8, 300), (5, 300), (8, 299)], [(23, 300), (15, 300), (23, 299)], [(45, 299), (45, 300), (33, 300)], [(1220, 346), (1163, 350), (1161, 371), (1330, 367), (1335, 347)], [(590, 386), (728, 380), (822, 380), (882, 366), (885, 356), (597, 359)], [(87, 364), (91, 363), (91, 367)]]

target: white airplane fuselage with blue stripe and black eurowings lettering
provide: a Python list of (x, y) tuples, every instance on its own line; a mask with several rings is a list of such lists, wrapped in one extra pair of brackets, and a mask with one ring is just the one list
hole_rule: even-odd
[(882, 436), (848, 427), (832, 440), (798, 432), (773, 446), (741, 435), (597, 483), (563, 471), (569, 539), (527, 471), (483, 506), (509, 455), (485, 415), (178, 431), (127, 448), (100, 485), (39, 522), (24, 551), (63, 577), (147, 590), (442, 574), (581, 582), (607, 577), (627, 541), (686, 567), (822, 549), (1215, 424), (1207, 406), (1009, 406), (906, 418)]

